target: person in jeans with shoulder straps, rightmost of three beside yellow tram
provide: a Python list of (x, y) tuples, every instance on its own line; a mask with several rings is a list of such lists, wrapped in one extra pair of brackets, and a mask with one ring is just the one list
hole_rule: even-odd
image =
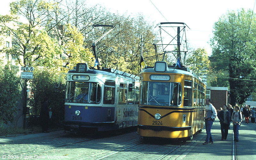
[(235, 106), (235, 111), (231, 116), (231, 120), (233, 121), (234, 141), (238, 142), (238, 131), (242, 122), (242, 114), (238, 106)]

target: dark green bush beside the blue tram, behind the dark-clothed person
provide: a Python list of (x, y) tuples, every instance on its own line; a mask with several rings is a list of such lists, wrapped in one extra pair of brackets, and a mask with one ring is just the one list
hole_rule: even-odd
[(33, 73), (33, 80), (30, 80), (31, 97), (30, 103), (30, 116), (34, 120), (30, 120), (35, 124), (39, 124), (39, 113), (41, 111), (41, 103), (44, 97), (48, 97), (49, 108), (52, 108), (52, 118), (50, 124), (60, 124), (64, 116), (64, 102), (65, 102), (65, 89), (64, 77), (61, 77), (60, 87), (59, 75), (50, 71), (35, 68)]

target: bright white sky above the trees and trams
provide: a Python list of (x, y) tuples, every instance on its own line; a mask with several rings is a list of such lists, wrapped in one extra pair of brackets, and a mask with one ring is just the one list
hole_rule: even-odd
[[(9, 3), (1, 2), (0, 14), (8, 14)], [(205, 48), (210, 55), (212, 49), (209, 40), (213, 25), (228, 10), (244, 8), (253, 10), (256, 0), (86, 0), (88, 6), (100, 4), (113, 13), (136, 15), (142, 13), (150, 23), (184, 22), (190, 28), (186, 30), (188, 43), (197, 48)], [(256, 8), (255, 8), (256, 10)], [(254, 10), (254, 12), (255, 12)]]

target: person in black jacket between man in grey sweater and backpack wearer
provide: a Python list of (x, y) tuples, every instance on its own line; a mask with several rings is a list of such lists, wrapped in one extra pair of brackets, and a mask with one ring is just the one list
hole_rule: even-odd
[(226, 140), (228, 136), (228, 126), (230, 125), (230, 113), (227, 105), (223, 105), (222, 110), (218, 113), (220, 120), (221, 140)]

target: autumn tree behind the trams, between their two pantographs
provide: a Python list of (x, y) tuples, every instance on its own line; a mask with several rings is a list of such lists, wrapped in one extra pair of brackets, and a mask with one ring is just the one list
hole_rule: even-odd
[[(131, 74), (139, 74), (141, 35), (143, 36), (142, 52), (146, 64), (154, 64), (154, 29), (143, 15), (126, 17), (112, 14), (109, 25), (116, 26), (96, 45), (100, 64), (106, 68), (116, 68)], [(95, 37), (100, 37), (109, 28), (95, 28)], [(97, 38), (96, 38), (97, 39)]]

